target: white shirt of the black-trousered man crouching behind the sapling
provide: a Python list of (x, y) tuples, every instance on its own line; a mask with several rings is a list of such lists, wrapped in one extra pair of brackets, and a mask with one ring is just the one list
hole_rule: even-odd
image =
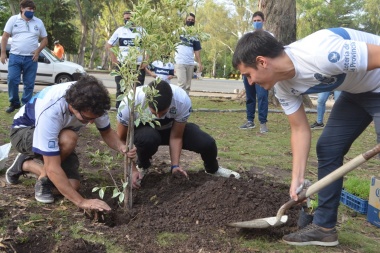
[[(143, 91), (144, 86), (139, 86), (136, 88), (136, 102), (135, 106), (145, 103), (145, 93)], [(161, 126), (156, 126), (157, 130), (168, 129), (173, 125), (173, 120), (176, 122), (187, 122), (190, 117), (191, 111), (191, 100), (187, 93), (177, 85), (170, 84), (170, 87), (173, 91), (173, 98), (169, 107), (169, 111), (163, 115), (160, 119), (157, 120), (161, 123)], [(127, 98), (124, 98), (120, 103), (120, 108), (123, 106), (122, 110), (119, 110), (117, 115), (117, 121), (128, 126), (129, 121), (129, 107)], [(149, 108), (146, 109), (146, 113), (151, 114)], [(134, 115), (135, 119), (139, 117), (139, 114), (136, 112)]]

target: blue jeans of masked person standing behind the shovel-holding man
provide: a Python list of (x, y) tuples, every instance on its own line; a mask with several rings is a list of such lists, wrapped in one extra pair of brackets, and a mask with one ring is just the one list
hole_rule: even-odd
[(243, 83), (247, 97), (245, 101), (245, 106), (247, 108), (247, 120), (253, 122), (255, 119), (257, 96), (259, 121), (261, 124), (266, 123), (268, 121), (268, 91), (258, 84), (249, 85), (245, 76), (243, 76)]

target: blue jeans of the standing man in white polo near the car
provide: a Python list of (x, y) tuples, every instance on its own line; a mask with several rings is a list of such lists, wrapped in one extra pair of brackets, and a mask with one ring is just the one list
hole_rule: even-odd
[(8, 96), (12, 105), (20, 105), (18, 85), (24, 84), (24, 93), (21, 103), (24, 105), (33, 96), (34, 82), (36, 81), (38, 63), (33, 61), (33, 56), (9, 54), (8, 61)]

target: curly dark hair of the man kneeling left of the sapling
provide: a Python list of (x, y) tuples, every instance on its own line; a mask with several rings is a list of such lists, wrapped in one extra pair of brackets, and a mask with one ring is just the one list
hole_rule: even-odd
[(81, 77), (71, 85), (65, 97), (67, 103), (80, 112), (101, 116), (111, 108), (108, 90), (102, 81), (90, 75)]

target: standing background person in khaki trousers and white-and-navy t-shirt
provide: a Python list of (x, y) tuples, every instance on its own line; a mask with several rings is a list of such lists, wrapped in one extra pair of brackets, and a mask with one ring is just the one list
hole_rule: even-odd
[[(186, 26), (194, 26), (195, 15), (190, 13), (186, 17)], [(201, 42), (196, 38), (186, 38), (184, 35), (180, 36), (181, 43), (177, 46), (175, 52), (175, 74), (178, 79), (178, 86), (190, 92), (191, 79), (194, 73), (194, 57), (198, 64), (198, 72), (202, 72), (203, 66), (201, 62)]]

